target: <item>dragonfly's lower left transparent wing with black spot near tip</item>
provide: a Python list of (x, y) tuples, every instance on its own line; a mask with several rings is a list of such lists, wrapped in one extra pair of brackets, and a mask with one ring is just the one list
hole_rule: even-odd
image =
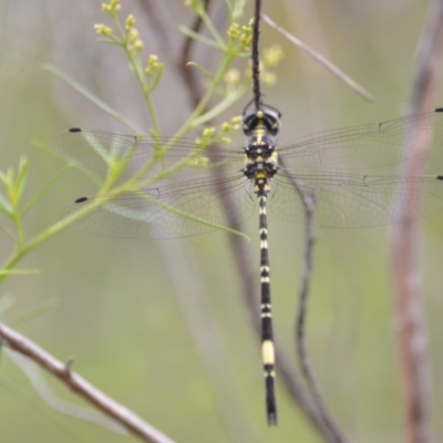
[[(229, 198), (230, 209), (224, 206)], [(127, 238), (181, 238), (228, 226), (230, 212), (245, 220), (256, 199), (250, 182), (236, 174), (202, 178), (137, 193), (79, 198), (62, 220), (83, 233)], [(203, 222), (203, 223), (202, 223)]]

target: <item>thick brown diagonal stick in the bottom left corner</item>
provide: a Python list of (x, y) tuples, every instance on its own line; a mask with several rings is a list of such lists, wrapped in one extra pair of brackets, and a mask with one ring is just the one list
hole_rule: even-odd
[(174, 443), (173, 440), (144, 422), (138, 415), (110, 399), (73, 372), (70, 369), (70, 364), (66, 365), (56, 360), (31, 340), (3, 323), (0, 323), (0, 339), (9, 349), (33, 360), (89, 403), (122, 424), (132, 434), (137, 435), (145, 442)]

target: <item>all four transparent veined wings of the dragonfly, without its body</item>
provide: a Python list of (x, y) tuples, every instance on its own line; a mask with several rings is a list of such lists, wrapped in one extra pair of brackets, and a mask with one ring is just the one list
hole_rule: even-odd
[[(418, 140), (410, 135), (418, 130), (429, 142), (427, 153), (443, 145), (442, 119), (442, 112), (433, 112), (326, 131), (278, 146), (284, 167), (272, 181), (271, 210), (285, 220), (302, 222), (291, 174), (315, 194), (316, 223), (321, 226), (378, 226), (399, 222), (403, 216), (418, 218), (443, 210), (443, 182), (435, 177), (372, 176), (362, 172), (398, 163), (401, 156), (404, 158), (403, 146), (405, 157), (414, 155)], [(153, 167), (146, 172), (154, 176), (161, 168), (186, 159), (184, 168), (177, 169), (174, 184), (163, 182), (137, 194), (92, 197), (71, 205), (64, 219), (90, 234), (185, 237), (225, 226), (229, 214), (222, 200), (227, 196), (235, 202), (233, 210), (240, 219), (247, 218), (255, 206), (251, 184), (241, 172), (245, 153), (240, 146), (218, 145), (202, 151), (190, 138), (181, 138), (176, 144), (169, 138), (81, 130), (61, 133), (52, 146), (70, 162), (94, 171), (106, 172), (123, 163), (124, 176), (135, 174), (150, 162)], [(220, 166), (229, 178), (219, 178)], [(406, 204), (409, 192), (412, 197)], [(79, 217), (82, 212), (87, 213), (84, 219)]]

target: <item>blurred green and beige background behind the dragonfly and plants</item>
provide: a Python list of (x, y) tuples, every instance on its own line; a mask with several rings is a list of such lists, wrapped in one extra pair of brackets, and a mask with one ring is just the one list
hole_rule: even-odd
[[(144, 54), (162, 41), (143, 1), (123, 1), (134, 13)], [(178, 24), (189, 24), (182, 2), (158, 3), (171, 40), (181, 48)], [(224, 2), (215, 7), (223, 28)], [(278, 43), (285, 59), (266, 101), (284, 115), (280, 140), (354, 124), (395, 119), (404, 112), (414, 52), (427, 2), (406, 0), (275, 0), (264, 9), (368, 89), (368, 104), (279, 34), (262, 25), (261, 45)], [(250, 6), (249, 6), (250, 7)], [(250, 8), (249, 8), (250, 11)], [(245, 16), (245, 23), (250, 12)], [(143, 101), (121, 50), (97, 44), (93, 24), (105, 22), (101, 1), (0, 0), (0, 167), (30, 158), (31, 197), (62, 162), (31, 146), (70, 126), (127, 132), (59, 79), (41, 69), (63, 69), (141, 127)], [(199, 60), (207, 49), (197, 49)], [(164, 133), (188, 115), (187, 94), (166, 65), (155, 94)], [(226, 117), (241, 113), (236, 104)], [(443, 105), (436, 99), (435, 104)], [(443, 158), (442, 158), (443, 159)], [(443, 164), (443, 163), (441, 163)], [(435, 173), (443, 173), (443, 166)], [(93, 194), (70, 171), (27, 217), (29, 236), (55, 223), (74, 198)], [(443, 216), (423, 222), (423, 293), (432, 356), (433, 435), (443, 441)], [(245, 224), (251, 266), (257, 267), (257, 220)], [(293, 319), (302, 265), (302, 226), (270, 217), (269, 244), (276, 336), (293, 361)], [(308, 344), (327, 403), (357, 442), (402, 441), (402, 394), (391, 278), (391, 228), (317, 229)], [(0, 256), (11, 250), (0, 235)], [(38, 276), (13, 277), (1, 289), (13, 297), (4, 321), (50, 299), (58, 306), (17, 329), (178, 442), (319, 442), (305, 415), (277, 380), (279, 426), (268, 429), (258, 340), (250, 327), (226, 234), (174, 241), (89, 237), (65, 230), (35, 250), (20, 268)], [(0, 440), (28, 442), (123, 442), (127, 436), (48, 409), (29, 379), (6, 354), (1, 359)], [(6, 388), (6, 380), (14, 389)], [(61, 398), (84, 404), (47, 377)], [(12, 384), (9, 384), (10, 387)]]

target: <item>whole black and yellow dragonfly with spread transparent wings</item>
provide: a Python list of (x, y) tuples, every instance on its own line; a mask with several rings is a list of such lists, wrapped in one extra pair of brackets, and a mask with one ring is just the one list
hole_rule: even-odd
[[(443, 175), (380, 173), (443, 146), (443, 109), (277, 145), (280, 121), (272, 106), (246, 107), (243, 145), (81, 128), (64, 131), (52, 142), (59, 154), (81, 168), (137, 177), (145, 184), (80, 197), (69, 205), (62, 220), (86, 234), (183, 238), (224, 228), (233, 216), (244, 222), (258, 207), (261, 357), (269, 425), (277, 425), (277, 403), (268, 209), (286, 222), (303, 223), (296, 179), (315, 198), (318, 226), (363, 228), (443, 212)], [(427, 147), (416, 154), (415, 144), (423, 141)]]

